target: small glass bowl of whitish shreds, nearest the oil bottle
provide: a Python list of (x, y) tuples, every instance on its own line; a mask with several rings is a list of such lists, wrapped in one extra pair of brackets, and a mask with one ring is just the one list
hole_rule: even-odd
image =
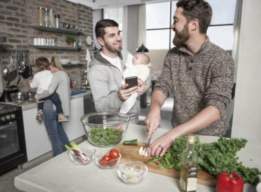
[(137, 184), (143, 180), (147, 173), (147, 166), (141, 161), (131, 161), (117, 167), (120, 179), (126, 184)]

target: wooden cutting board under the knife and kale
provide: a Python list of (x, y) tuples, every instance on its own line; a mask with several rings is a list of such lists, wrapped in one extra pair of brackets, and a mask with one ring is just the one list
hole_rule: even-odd
[[(141, 162), (144, 162), (150, 157), (144, 158), (143, 156), (139, 156), (139, 148), (145, 147), (146, 143), (139, 143), (138, 145), (117, 145), (114, 147), (114, 149), (117, 149), (122, 158), (120, 160), (120, 164), (127, 163), (129, 161), (133, 160), (139, 160)], [(172, 178), (179, 179), (180, 177), (180, 171), (176, 171), (175, 169), (162, 169), (159, 168), (159, 166), (156, 163), (146, 163), (146, 166), (148, 167), (148, 171), (153, 173), (158, 173), (163, 176), (169, 176)], [(216, 178), (214, 176), (210, 176), (205, 171), (198, 171), (198, 184), (203, 184), (209, 187), (216, 187)]]

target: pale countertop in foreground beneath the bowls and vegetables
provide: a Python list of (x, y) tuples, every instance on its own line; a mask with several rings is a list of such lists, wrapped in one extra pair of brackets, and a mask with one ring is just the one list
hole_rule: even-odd
[[(168, 130), (158, 128), (152, 136), (152, 141)], [(199, 136), (202, 142), (212, 142), (217, 136)], [(146, 127), (130, 124), (126, 132), (125, 140), (138, 139), (146, 143)], [(152, 143), (151, 141), (151, 143)], [(107, 149), (94, 147), (88, 141), (84, 141), (80, 147), (89, 146), (96, 152)], [(109, 150), (110, 148), (108, 148)], [(249, 141), (245, 148), (238, 152), (238, 157), (247, 167), (258, 167), (261, 170), (261, 142)], [(179, 180), (148, 172), (146, 178), (139, 184), (124, 184), (118, 178), (116, 169), (100, 169), (95, 162), (90, 165), (76, 166), (64, 152), (45, 163), (22, 173), (14, 178), (14, 186), (22, 191), (179, 191)], [(251, 184), (245, 184), (244, 191), (255, 191)], [(197, 184), (197, 191), (216, 191), (212, 187)]]

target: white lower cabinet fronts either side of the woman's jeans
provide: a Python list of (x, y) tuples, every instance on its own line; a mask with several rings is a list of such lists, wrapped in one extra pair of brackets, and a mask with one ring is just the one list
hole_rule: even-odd
[[(71, 99), (71, 111), (69, 121), (63, 123), (63, 128), (67, 133), (69, 141), (79, 138), (85, 134), (85, 130), (80, 122), (84, 115), (83, 97)], [(37, 108), (23, 110), (23, 126), (25, 129), (25, 144), (27, 150), (27, 160), (32, 160), (52, 150), (45, 125), (43, 121), (36, 121)]]

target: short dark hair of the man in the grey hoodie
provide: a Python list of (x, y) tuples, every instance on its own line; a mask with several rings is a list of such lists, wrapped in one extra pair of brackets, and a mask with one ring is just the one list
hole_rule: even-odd
[(105, 27), (119, 27), (119, 25), (116, 21), (113, 21), (111, 19), (101, 19), (95, 25), (96, 38), (100, 37), (104, 40), (104, 34), (105, 34), (104, 28)]

